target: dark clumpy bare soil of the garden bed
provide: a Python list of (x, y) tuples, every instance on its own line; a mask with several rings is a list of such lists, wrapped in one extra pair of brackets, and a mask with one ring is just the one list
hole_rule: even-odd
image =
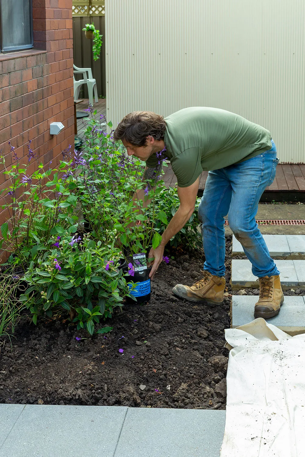
[(228, 291), (220, 305), (171, 293), (177, 283), (201, 279), (204, 262), (201, 251), (171, 252), (175, 259), (157, 271), (150, 303), (116, 308), (100, 325), (113, 326), (105, 337), (76, 330), (66, 316), (37, 326), (23, 316), (11, 342), (0, 344), (0, 403), (225, 409), (224, 329), (230, 328), (231, 295), (239, 292), (230, 288), (231, 249), (227, 237)]

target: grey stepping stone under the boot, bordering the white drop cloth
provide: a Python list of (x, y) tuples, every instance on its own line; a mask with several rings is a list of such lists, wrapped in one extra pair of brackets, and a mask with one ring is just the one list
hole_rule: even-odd
[[(232, 327), (249, 324), (254, 320), (254, 306), (258, 296), (233, 295), (232, 297)], [(269, 324), (276, 325), (279, 329), (298, 335), (305, 333), (305, 300), (304, 297), (285, 297), (284, 303), (277, 316), (268, 319)]]

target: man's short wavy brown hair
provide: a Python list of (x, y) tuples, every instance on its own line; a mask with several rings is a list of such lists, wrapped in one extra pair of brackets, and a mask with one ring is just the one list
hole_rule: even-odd
[(134, 146), (144, 146), (146, 137), (164, 138), (166, 122), (163, 116), (151, 111), (134, 111), (123, 117), (113, 133), (114, 140), (125, 140)]

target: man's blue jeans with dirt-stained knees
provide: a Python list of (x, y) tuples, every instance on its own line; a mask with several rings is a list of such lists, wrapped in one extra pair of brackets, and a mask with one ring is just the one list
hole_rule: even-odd
[(232, 232), (251, 261), (255, 276), (278, 275), (267, 245), (255, 221), (263, 191), (275, 177), (276, 147), (239, 164), (209, 171), (198, 208), (202, 222), (204, 270), (225, 275), (225, 216)]

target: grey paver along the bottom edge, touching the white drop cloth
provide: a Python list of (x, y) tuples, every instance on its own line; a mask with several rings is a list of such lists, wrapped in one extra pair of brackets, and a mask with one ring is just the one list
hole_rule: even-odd
[(114, 457), (219, 457), (225, 411), (129, 408)]

